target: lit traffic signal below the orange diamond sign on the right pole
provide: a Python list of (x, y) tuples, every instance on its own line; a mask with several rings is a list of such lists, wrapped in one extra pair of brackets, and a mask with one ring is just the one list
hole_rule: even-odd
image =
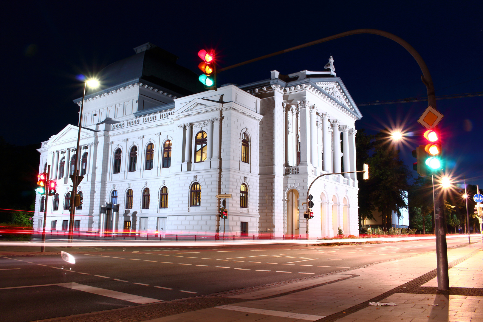
[(416, 158), (416, 162), (412, 164), (412, 168), (421, 177), (426, 177), (431, 171), (437, 171), (441, 168), (439, 132), (436, 130), (427, 130), (424, 133), (424, 138), (426, 139), (426, 145), (420, 145), (416, 150), (412, 151), (412, 156)]

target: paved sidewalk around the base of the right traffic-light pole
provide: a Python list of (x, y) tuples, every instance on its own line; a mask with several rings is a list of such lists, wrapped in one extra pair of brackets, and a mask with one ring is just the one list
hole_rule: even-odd
[[(229, 298), (240, 302), (149, 322), (483, 322), (480, 249), (475, 243), (448, 250), (452, 289), (446, 294), (435, 287), (436, 256), (428, 252), (232, 295)], [(368, 305), (369, 301), (394, 302), (397, 306), (375, 307)]]

